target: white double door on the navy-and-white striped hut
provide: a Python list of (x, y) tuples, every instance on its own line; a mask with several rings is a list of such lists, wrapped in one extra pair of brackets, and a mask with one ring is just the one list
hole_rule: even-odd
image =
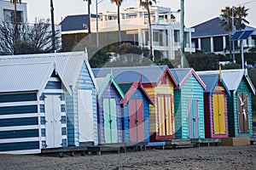
[(59, 95), (46, 95), (45, 106), (45, 139), (47, 148), (61, 147), (61, 99)]

